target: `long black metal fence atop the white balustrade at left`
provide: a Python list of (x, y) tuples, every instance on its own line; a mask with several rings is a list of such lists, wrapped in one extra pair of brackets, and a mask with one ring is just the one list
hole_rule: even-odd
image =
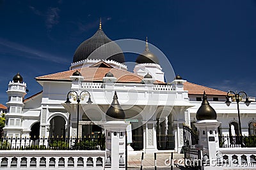
[(105, 150), (105, 136), (84, 136), (84, 138), (1, 138), (0, 150)]

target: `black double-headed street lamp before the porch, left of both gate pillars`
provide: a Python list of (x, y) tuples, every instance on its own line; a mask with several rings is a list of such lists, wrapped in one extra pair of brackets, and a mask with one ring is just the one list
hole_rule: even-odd
[[(88, 104), (92, 104), (92, 99), (91, 99), (91, 95), (88, 91), (86, 90), (83, 90), (80, 94), (78, 94), (76, 91), (73, 91), (71, 90), (70, 92), (68, 92), (67, 94), (67, 101), (65, 101), (65, 103), (69, 104), (71, 103), (70, 100), (69, 100), (69, 94), (74, 92), (76, 94), (76, 96), (73, 98), (74, 101), (77, 101), (77, 125), (76, 125), (76, 139), (78, 141), (78, 124), (79, 124), (79, 104), (80, 104), (80, 101), (81, 99), (83, 100), (84, 99), (84, 96), (89, 96), (88, 98), (88, 101), (86, 103)], [(74, 94), (71, 94), (71, 96), (74, 96)]]

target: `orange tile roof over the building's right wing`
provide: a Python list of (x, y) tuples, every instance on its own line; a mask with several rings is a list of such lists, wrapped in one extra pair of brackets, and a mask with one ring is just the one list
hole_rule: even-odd
[(210, 87), (205, 87), (202, 85), (196, 85), (194, 83), (185, 82), (184, 90), (188, 90), (188, 94), (204, 94), (204, 91), (207, 95), (216, 95), (216, 96), (226, 96), (227, 92), (223, 92), (221, 90), (212, 89)]

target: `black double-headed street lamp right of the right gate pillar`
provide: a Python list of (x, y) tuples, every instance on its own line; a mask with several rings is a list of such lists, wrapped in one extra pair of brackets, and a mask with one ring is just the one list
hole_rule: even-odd
[[(238, 123), (239, 123), (239, 136), (242, 136), (242, 128), (241, 128), (241, 120), (240, 120), (240, 111), (239, 111), (239, 102), (241, 101), (241, 99), (243, 98), (242, 96), (243, 96), (243, 94), (245, 94), (245, 96), (246, 96), (246, 99), (245, 99), (245, 104), (246, 104), (246, 106), (249, 106), (250, 105), (250, 101), (249, 101), (249, 99), (248, 99), (248, 96), (247, 96), (247, 94), (246, 94), (246, 92), (243, 92), (243, 91), (241, 91), (241, 92), (239, 92), (239, 93), (235, 93), (235, 92), (232, 92), (232, 91), (228, 91), (227, 92), (227, 96), (226, 96), (226, 104), (227, 104), (227, 106), (230, 106), (230, 103), (231, 103), (231, 101), (229, 100), (229, 98), (231, 97), (231, 98), (234, 98), (235, 97), (235, 99), (236, 99), (236, 104), (237, 104), (237, 111), (238, 111)], [(240, 138), (241, 139), (241, 138)], [(240, 141), (242, 141), (242, 140), (240, 140)], [(242, 144), (242, 143), (241, 143)]]

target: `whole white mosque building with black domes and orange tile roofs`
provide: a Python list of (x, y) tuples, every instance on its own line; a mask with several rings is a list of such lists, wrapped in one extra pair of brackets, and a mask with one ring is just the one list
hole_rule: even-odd
[[(116, 54), (108, 59), (102, 57), (109, 53)], [(106, 120), (115, 92), (125, 112), (125, 121), (131, 124), (134, 150), (179, 152), (183, 146), (182, 124), (194, 127), (204, 91), (221, 122), (220, 134), (239, 133), (237, 105), (234, 102), (226, 106), (227, 92), (190, 83), (180, 76), (170, 83), (164, 82), (164, 70), (147, 43), (136, 63), (133, 73), (127, 71), (124, 53), (104, 34), (100, 25), (91, 38), (78, 46), (67, 71), (36, 77), (42, 85), (41, 92), (26, 98), (25, 80), (19, 73), (13, 77), (7, 90), (4, 136), (76, 138), (78, 134), (83, 138), (104, 132), (100, 125)], [(78, 96), (81, 94), (79, 108), (76, 92)], [(67, 94), (71, 103), (65, 103)], [(92, 103), (88, 104), (89, 99)], [(243, 134), (256, 134), (256, 103), (250, 106), (241, 103), (240, 115)], [(164, 143), (163, 136), (168, 137)]]

